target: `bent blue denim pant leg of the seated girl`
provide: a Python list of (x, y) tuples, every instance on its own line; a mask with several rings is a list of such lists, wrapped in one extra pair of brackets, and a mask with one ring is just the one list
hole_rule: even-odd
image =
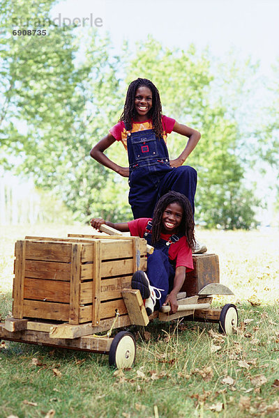
[[(162, 296), (156, 305), (160, 309), (169, 293), (169, 284), (172, 287), (172, 281), (174, 279), (174, 268), (169, 263), (169, 257), (160, 249), (154, 249), (153, 254), (149, 254), (146, 274), (151, 286), (163, 289), (163, 291), (160, 291)], [(156, 295), (158, 296), (157, 291)]]

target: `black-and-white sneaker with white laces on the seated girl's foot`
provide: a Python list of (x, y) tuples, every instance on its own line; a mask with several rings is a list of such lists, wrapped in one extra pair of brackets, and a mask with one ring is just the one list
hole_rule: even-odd
[[(142, 299), (145, 299), (144, 306), (146, 309), (146, 314), (148, 316), (153, 314), (156, 300), (159, 300), (162, 297), (160, 291), (163, 291), (164, 289), (158, 289), (154, 286), (151, 286), (147, 274), (142, 270), (138, 270), (133, 274), (131, 286), (133, 289), (139, 289), (142, 295)], [(156, 293), (158, 293), (158, 296)]]

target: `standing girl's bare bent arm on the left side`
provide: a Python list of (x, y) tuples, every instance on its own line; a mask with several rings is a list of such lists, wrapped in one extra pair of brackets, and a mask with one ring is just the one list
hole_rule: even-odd
[(103, 164), (103, 166), (120, 174), (120, 176), (129, 177), (128, 167), (119, 166), (104, 154), (104, 151), (109, 148), (115, 141), (116, 139), (112, 136), (111, 133), (107, 134), (98, 142), (98, 144), (96, 144), (96, 146), (93, 146), (90, 151), (90, 156), (94, 158), (94, 160), (100, 162), (100, 164)]

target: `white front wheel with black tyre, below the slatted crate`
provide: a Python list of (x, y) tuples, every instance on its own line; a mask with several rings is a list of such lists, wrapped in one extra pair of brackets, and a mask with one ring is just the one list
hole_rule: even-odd
[(121, 331), (110, 346), (109, 363), (117, 369), (130, 369), (135, 362), (135, 337), (127, 331)]

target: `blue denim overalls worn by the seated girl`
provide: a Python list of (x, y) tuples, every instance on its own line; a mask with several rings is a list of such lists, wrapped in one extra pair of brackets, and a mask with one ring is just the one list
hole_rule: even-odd
[[(149, 221), (144, 233), (144, 238), (149, 245), (153, 245), (151, 242), (151, 228), (152, 222)], [(160, 299), (156, 302), (156, 309), (160, 309), (174, 285), (175, 268), (169, 260), (169, 245), (177, 242), (179, 238), (181, 238), (180, 235), (172, 235), (168, 241), (160, 238), (160, 241), (156, 242), (154, 246), (153, 254), (149, 254), (147, 258), (147, 277), (151, 286), (160, 290), (160, 293), (155, 291), (156, 295), (160, 296), (161, 294)]]

